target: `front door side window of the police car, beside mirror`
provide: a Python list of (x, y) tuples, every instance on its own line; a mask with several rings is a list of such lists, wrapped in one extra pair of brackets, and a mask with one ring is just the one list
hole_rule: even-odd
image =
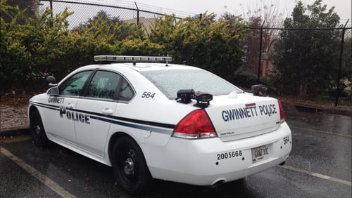
[(92, 71), (80, 72), (63, 82), (59, 87), (60, 95), (80, 95), (84, 83), (87, 81)]

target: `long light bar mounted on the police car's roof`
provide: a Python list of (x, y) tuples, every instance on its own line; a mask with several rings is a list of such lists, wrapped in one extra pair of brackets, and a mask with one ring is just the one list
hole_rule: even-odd
[(170, 62), (170, 56), (130, 56), (130, 55), (96, 55), (94, 61), (113, 62)]

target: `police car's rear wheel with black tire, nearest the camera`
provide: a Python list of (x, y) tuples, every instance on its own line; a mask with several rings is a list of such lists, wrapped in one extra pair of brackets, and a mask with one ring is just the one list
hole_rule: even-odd
[(112, 159), (115, 178), (125, 192), (139, 195), (149, 190), (153, 178), (141, 148), (132, 138), (118, 138), (113, 147)]

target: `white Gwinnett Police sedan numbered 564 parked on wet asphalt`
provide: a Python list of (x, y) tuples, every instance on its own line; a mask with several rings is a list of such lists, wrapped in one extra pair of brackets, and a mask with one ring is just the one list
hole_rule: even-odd
[(113, 167), (131, 194), (153, 178), (218, 185), (283, 164), (291, 131), (265, 87), (246, 93), (170, 57), (98, 55), (30, 99), (34, 144)]

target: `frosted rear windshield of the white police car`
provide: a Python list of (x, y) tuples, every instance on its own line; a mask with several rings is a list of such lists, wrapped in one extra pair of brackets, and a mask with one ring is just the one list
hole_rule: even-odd
[(194, 89), (212, 95), (227, 95), (232, 91), (243, 93), (241, 89), (206, 70), (158, 70), (141, 72), (166, 97), (173, 100), (180, 89)]

